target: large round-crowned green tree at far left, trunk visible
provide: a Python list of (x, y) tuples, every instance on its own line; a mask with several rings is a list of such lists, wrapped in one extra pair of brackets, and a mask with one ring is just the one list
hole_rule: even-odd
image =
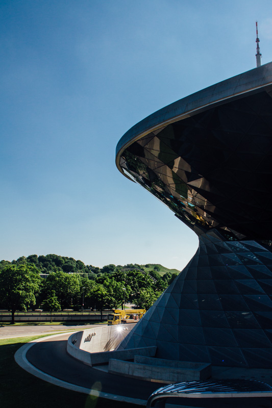
[(0, 297), (2, 303), (11, 311), (14, 323), (16, 310), (27, 311), (36, 302), (39, 292), (39, 270), (29, 264), (8, 265), (0, 272)]

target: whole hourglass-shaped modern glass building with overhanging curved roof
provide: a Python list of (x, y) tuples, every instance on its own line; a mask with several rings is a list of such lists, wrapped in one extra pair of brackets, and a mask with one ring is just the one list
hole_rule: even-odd
[(119, 349), (156, 345), (158, 358), (270, 368), (272, 63), (143, 119), (118, 142), (116, 164), (200, 241)]

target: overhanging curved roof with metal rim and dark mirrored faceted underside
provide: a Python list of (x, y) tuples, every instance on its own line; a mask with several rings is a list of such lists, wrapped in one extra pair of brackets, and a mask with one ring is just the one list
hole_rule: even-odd
[(271, 240), (272, 63), (178, 100), (117, 144), (118, 169), (196, 234)]

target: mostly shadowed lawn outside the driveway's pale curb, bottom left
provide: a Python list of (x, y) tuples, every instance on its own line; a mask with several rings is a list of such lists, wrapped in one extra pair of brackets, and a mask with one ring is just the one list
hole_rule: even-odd
[(44, 336), (0, 340), (1, 408), (136, 408), (138, 405), (92, 397), (57, 387), (24, 371), (14, 360), (23, 344)]

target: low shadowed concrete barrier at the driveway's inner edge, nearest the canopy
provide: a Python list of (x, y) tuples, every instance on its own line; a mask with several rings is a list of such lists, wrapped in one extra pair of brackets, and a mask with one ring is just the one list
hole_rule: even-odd
[[(136, 359), (139, 360), (139, 356), (137, 356)], [(145, 357), (143, 357), (143, 360), (144, 359)], [(152, 359), (147, 358), (147, 361), (148, 360)], [(158, 364), (158, 362), (156, 362), (156, 364)], [(123, 375), (131, 378), (143, 379), (147, 381), (164, 382), (165, 384), (172, 384), (172, 382), (200, 380), (203, 377), (207, 378), (207, 376), (210, 376), (210, 371), (208, 368), (209, 365), (203, 363), (199, 363), (199, 366), (195, 366), (194, 368), (178, 368), (156, 364), (140, 364), (110, 359), (109, 373)]]

